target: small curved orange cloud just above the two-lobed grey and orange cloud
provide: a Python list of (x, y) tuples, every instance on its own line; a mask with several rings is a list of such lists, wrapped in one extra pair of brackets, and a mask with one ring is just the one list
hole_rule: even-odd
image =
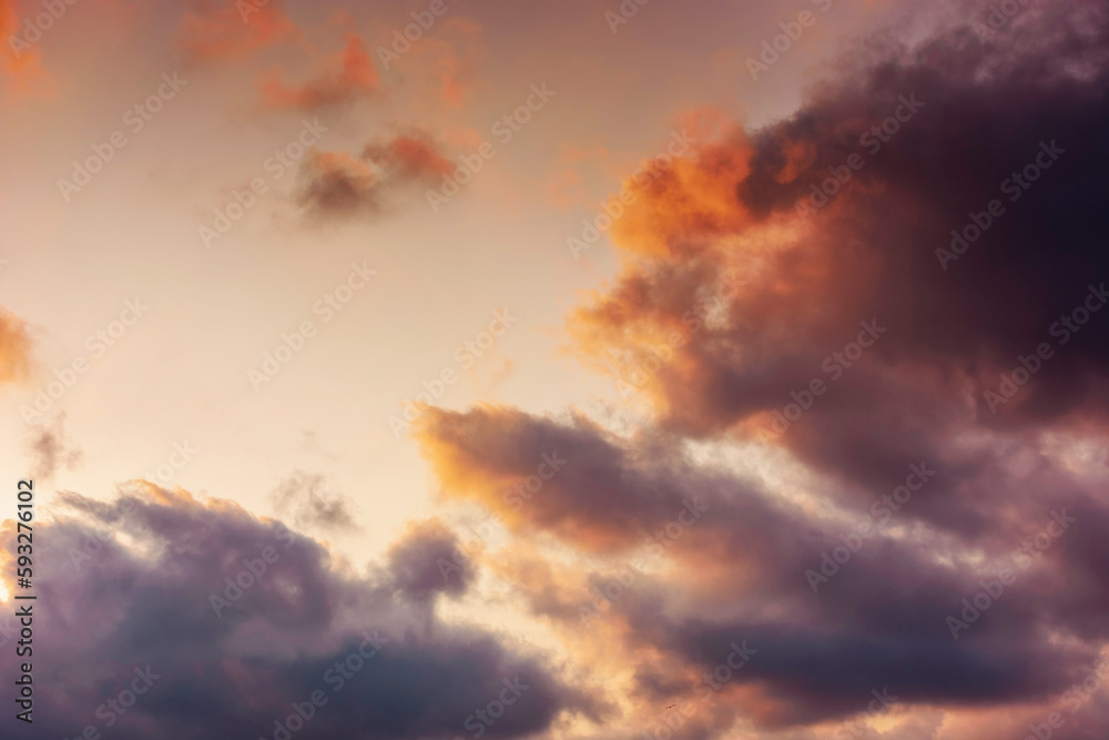
[(323, 71), (304, 84), (283, 82), (278, 71), (265, 75), (262, 82), (263, 103), (268, 108), (312, 111), (377, 92), (380, 78), (362, 39), (347, 33), (346, 42), (346, 48), (328, 55)]

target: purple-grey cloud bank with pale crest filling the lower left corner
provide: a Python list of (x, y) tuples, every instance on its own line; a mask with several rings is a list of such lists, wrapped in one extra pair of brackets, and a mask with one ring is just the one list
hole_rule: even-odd
[[(592, 711), (590, 699), (491, 633), (444, 624), (434, 636), (414, 630), (427, 615), (391, 596), (387, 574), (377, 581), (340, 572), (318, 543), (234, 503), (142, 483), (110, 504), (74, 493), (58, 504), (58, 519), (35, 531), (37, 586), (52, 606), (34, 616), (35, 642), (53, 646), (34, 660), (37, 677), (54, 677), (35, 696), (44, 736), (90, 724), (103, 732), (111, 720), (121, 740), (272, 737), (293, 702), (319, 690), (327, 703), (299, 737), (452, 737), (517, 680), (526, 688), (491, 737), (542, 732)], [(115, 537), (124, 531), (128, 546)], [(13, 523), (0, 539), (4, 572), (13, 574)], [(235, 591), (228, 578), (244, 586)], [(214, 597), (228, 595), (216, 616)], [(355, 669), (349, 656), (375, 647), (367, 637), (379, 641), (377, 652)], [(337, 661), (347, 667), (342, 681)], [(152, 686), (133, 706), (124, 698), (125, 712), (105, 706), (132, 686), (136, 668), (156, 676)], [(3, 696), (13, 701), (12, 688)]]

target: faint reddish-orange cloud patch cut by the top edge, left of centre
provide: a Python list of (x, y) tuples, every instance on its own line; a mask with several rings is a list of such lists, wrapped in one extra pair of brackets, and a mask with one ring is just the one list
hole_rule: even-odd
[(186, 59), (235, 59), (289, 38), (296, 27), (282, 8), (281, 0), (256, 7), (205, 3), (181, 19), (177, 48)]

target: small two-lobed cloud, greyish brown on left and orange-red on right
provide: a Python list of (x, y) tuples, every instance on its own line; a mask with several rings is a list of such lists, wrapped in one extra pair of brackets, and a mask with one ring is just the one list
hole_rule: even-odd
[(297, 203), (315, 220), (375, 217), (406, 187), (434, 184), (454, 165), (424, 132), (368, 144), (358, 156), (312, 152), (297, 176)]

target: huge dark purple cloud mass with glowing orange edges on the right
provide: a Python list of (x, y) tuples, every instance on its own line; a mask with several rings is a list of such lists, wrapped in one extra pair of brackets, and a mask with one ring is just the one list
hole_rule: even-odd
[[(1102, 653), (1109, 10), (1024, 12), (986, 43), (966, 26), (875, 37), (790, 118), (694, 116), (689, 156), (625, 184), (621, 271), (568, 328), (647, 402), (635, 425), (425, 413), (444, 496), (528, 554), (501, 577), (538, 578), (530, 608), (581, 660), (634, 670), (621, 727), (692, 700), (737, 640), (759, 652), (693, 737), (831, 731), (883, 687), (905, 737), (983, 737), (976, 713), (1058, 707)], [(552, 450), (564, 469), (521, 496)], [(689, 500), (703, 516), (668, 535)], [(814, 581), (832, 553), (847, 560)], [(1005, 568), (954, 639), (963, 599)]]

